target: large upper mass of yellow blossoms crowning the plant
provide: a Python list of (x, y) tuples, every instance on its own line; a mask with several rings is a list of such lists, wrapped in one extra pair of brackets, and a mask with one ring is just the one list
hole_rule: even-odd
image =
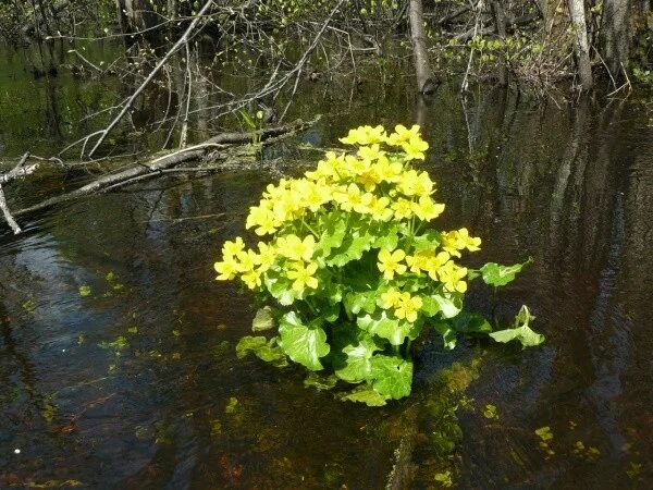
[[(404, 168), (407, 160), (423, 159), (429, 147), (419, 126), (398, 125), (390, 136), (382, 126), (362, 126), (341, 140), (365, 146), (356, 155), (329, 151), (304, 177), (270, 184), (258, 206), (250, 208), (245, 226), (259, 236), (274, 234), (285, 223), (329, 206), (382, 222), (412, 217), (431, 221), (444, 211), (431, 197), (434, 185), (428, 172)], [(402, 152), (383, 150), (382, 144)]]

